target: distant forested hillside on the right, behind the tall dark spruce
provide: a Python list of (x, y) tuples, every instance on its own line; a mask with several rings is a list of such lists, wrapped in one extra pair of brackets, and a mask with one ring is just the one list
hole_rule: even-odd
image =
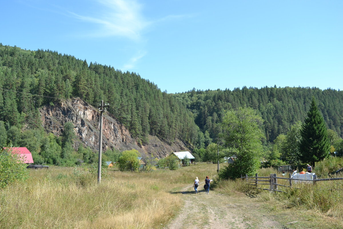
[(252, 107), (264, 119), (263, 127), (267, 141), (272, 142), (279, 134), (285, 134), (297, 121), (303, 122), (315, 97), (329, 129), (343, 136), (343, 91), (301, 87), (263, 87), (234, 90), (191, 90), (178, 93), (187, 108), (195, 114), (195, 122), (210, 138), (221, 133), (220, 123), (225, 110)]

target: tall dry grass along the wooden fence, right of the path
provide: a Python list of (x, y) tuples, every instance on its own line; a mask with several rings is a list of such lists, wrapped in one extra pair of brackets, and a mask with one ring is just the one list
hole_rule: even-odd
[[(324, 161), (324, 163), (328, 162)], [(323, 168), (325, 167), (323, 166)], [(321, 168), (321, 171), (325, 171), (325, 169)], [(283, 177), (281, 173), (273, 168), (260, 169), (258, 176), (268, 177), (274, 173), (278, 177)], [(342, 177), (342, 174), (339, 176)], [(288, 178), (289, 175), (286, 174), (285, 177)], [(269, 183), (269, 179), (265, 180), (267, 182), (260, 183)], [(289, 185), (289, 180), (278, 179), (277, 183)], [(284, 214), (287, 214), (287, 212), (289, 214), (294, 214), (294, 212), (305, 213), (310, 210), (312, 213), (315, 213), (312, 215), (312, 220), (328, 220), (331, 225), (334, 225), (333, 228), (343, 228), (343, 181), (322, 181), (317, 182), (315, 185), (312, 182), (295, 183), (293, 181), (293, 188), (278, 187), (278, 190), (285, 193), (270, 193), (269, 191), (258, 190), (249, 184), (253, 183), (237, 179), (234, 181), (220, 181), (216, 187), (227, 195), (244, 193), (248, 196), (258, 196), (268, 208), (275, 211), (281, 210)], [(259, 184), (258, 187), (269, 188), (269, 185)], [(324, 217), (327, 218), (324, 219)]]

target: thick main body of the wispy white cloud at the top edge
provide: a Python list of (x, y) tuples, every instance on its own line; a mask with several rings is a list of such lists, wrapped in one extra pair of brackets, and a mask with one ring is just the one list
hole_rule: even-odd
[(134, 41), (140, 41), (141, 32), (150, 24), (142, 14), (141, 5), (134, 0), (98, 0), (103, 4), (104, 12), (96, 16), (84, 16), (70, 12), (75, 18), (99, 24), (99, 30), (91, 32), (90, 36), (108, 37), (122, 36)]

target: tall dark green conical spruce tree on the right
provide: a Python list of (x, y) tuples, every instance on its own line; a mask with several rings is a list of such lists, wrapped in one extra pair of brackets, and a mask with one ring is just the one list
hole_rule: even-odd
[(310, 110), (301, 128), (301, 140), (299, 144), (301, 161), (315, 162), (329, 157), (330, 142), (328, 130), (323, 116), (320, 114), (315, 98), (312, 98)]

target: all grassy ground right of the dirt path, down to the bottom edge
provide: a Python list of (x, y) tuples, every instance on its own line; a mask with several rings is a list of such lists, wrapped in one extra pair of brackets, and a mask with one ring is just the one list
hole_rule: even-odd
[[(318, 167), (322, 170), (320, 163)], [(258, 176), (269, 176), (274, 173), (282, 176), (272, 168), (260, 169)], [(327, 174), (322, 173), (321, 177), (327, 177)], [(279, 179), (277, 182), (289, 185), (288, 180)], [(293, 183), (293, 186), (300, 189), (279, 187), (279, 190), (286, 193), (270, 193), (252, 188), (247, 182), (239, 179), (218, 182), (216, 190), (226, 195), (245, 193), (251, 198), (258, 199), (264, 206), (261, 211), (265, 211), (266, 214), (273, 213), (275, 219), (281, 223), (293, 222), (287, 228), (343, 228), (343, 181), (317, 182), (316, 185)], [(269, 185), (259, 187), (269, 188)]]

